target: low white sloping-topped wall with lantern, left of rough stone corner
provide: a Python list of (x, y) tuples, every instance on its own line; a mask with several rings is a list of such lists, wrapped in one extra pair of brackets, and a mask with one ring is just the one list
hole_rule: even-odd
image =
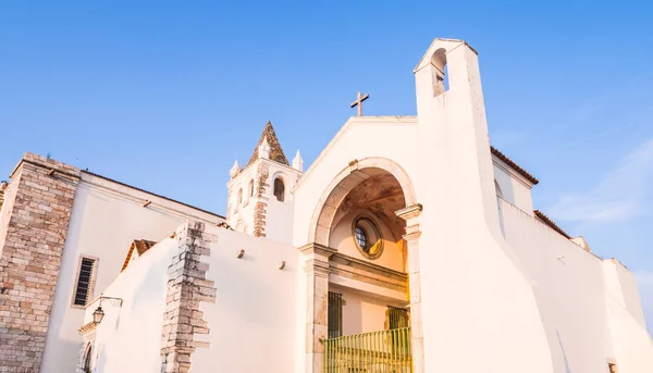
[[(123, 303), (116, 307), (116, 303), (102, 301), (104, 319), (97, 326), (93, 351), (95, 373), (161, 370), (167, 272), (177, 247), (175, 239), (162, 240), (134, 261), (104, 290), (104, 296), (121, 298)], [(85, 323), (93, 321), (98, 304), (96, 300), (86, 309)]]

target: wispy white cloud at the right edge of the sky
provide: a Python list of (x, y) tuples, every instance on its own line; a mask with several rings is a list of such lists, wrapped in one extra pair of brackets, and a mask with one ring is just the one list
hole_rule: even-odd
[(641, 144), (621, 159), (619, 166), (584, 194), (560, 197), (551, 215), (580, 223), (604, 223), (629, 220), (644, 214), (642, 203), (653, 176), (653, 139)]

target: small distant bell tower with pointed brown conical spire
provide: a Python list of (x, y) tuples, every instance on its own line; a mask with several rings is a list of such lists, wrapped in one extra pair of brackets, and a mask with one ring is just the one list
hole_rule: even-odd
[(288, 162), (272, 123), (268, 121), (244, 167), (236, 161), (226, 184), (226, 221), (237, 232), (291, 244), (292, 188), (304, 174), (299, 151)]

